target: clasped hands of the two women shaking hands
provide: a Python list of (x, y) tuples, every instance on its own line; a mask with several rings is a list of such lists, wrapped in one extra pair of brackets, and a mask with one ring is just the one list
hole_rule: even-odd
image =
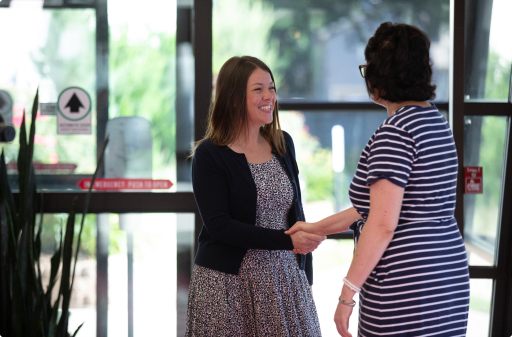
[(295, 254), (307, 254), (314, 251), (327, 236), (319, 233), (314, 223), (297, 221), (295, 225), (284, 232), (290, 235)]

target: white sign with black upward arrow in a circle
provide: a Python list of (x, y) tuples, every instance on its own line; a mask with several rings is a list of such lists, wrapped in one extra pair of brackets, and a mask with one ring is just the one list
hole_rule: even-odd
[(59, 95), (57, 111), (57, 134), (91, 133), (91, 97), (84, 89), (64, 89)]

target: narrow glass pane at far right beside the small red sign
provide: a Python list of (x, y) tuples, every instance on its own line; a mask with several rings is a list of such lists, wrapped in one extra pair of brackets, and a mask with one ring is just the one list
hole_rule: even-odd
[(464, 166), (482, 167), (483, 193), (464, 194), (464, 241), (470, 265), (495, 264), (507, 118), (464, 118)]

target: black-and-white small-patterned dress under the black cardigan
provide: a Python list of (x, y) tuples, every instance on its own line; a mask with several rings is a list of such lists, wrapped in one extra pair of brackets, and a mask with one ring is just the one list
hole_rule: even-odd
[[(287, 229), (293, 188), (276, 157), (249, 163), (256, 226)], [(321, 336), (306, 274), (286, 250), (249, 249), (238, 275), (194, 266), (185, 336)]]

